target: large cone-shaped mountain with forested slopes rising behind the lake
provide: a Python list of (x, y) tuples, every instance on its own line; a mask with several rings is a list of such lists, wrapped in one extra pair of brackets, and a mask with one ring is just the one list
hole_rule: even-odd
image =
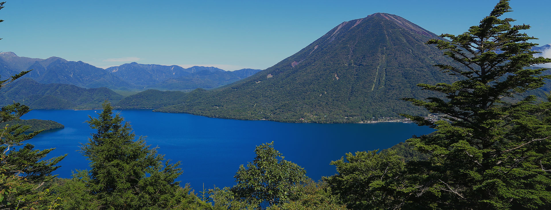
[[(431, 38), (438, 36), (400, 16), (375, 13), (339, 24), (293, 56), (247, 79), (210, 91), (198, 89), (149, 108), (218, 118), (317, 123), (424, 114), (399, 98), (431, 96), (416, 85), (455, 79), (433, 67), (449, 61), (424, 44)], [(139, 93), (117, 105), (129, 108), (137, 104), (132, 103), (135, 100), (159, 94)]]

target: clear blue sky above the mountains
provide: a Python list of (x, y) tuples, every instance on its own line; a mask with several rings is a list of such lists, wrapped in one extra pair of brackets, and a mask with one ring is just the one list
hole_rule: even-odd
[[(27, 1), (0, 11), (0, 51), (106, 68), (144, 64), (266, 69), (343, 21), (383, 12), (435, 34), (460, 34), (497, 0)], [(551, 43), (549, 0), (513, 0), (516, 24)]]

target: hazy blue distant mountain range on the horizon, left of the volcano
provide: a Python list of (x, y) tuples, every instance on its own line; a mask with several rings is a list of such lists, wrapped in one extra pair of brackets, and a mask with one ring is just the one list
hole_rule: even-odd
[(33, 71), (25, 77), (33, 78), (43, 84), (71, 84), (84, 88), (107, 87), (115, 90), (212, 89), (261, 71), (259, 69), (225, 71), (214, 67), (185, 69), (177, 65), (135, 62), (101, 69), (82, 61), (74, 62), (58, 57), (39, 59), (19, 57), (13, 52), (0, 53), (0, 75), (14, 75), (30, 69)]

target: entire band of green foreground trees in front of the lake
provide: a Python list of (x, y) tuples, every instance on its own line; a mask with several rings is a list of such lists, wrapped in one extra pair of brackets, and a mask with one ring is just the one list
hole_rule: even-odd
[[(525, 67), (551, 59), (534, 56), (535, 38), (522, 32), (529, 25), (502, 17), (511, 10), (501, 0), (467, 32), (426, 41), (455, 61), (436, 67), (458, 80), (418, 84), (442, 97), (402, 98), (442, 120), (415, 112), (402, 117), (435, 132), (381, 152), (346, 153), (330, 163), (336, 175), (311, 180), (307, 169), (267, 142), (236, 168), (234, 186), (196, 192), (175, 181), (181, 162), (166, 160), (145, 137), (136, 137), (104, 102), (103, 111), (86, 121), (94, 132), (80, 152), (90, 169), (75, 171), (72, 179), (53, 175), (66, 155), (44, 159), (53, 148), (23, 143), (38, 131), (3, 128), (0, 209), (551, 209), (551, 97), (518, 99), (551, 78), (545, 69)], [(1, 81), (0, 88), (28, 72)], [(3, 106), (0, 122), (29, 110), (19, 103)]]

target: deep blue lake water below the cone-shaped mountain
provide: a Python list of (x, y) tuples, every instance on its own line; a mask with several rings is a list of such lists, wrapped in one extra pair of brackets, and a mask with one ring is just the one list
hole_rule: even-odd
[[(23, 119), (55, 120), (64, 129), (45, 131), (29, 140), (40, 150), (56, 147), (52, 157), (68, 153), (55, 174), (70, 178), (75, 169), (87, 169), (87, 159), (79, 150), (91, 130), (85, 120), (101, 110), (32, 110)], [(310, 178), (336, 173), (329, 162), (347, 152), (389, 148), (412, 135), (433, 130), (406, 123), (314, 124), (277, 123), (266, 120), (230, 120), (191, 114), (158, 113), (150, 109), (115, 110), (130, 121), (137, 136), (147, 136), (148, 145), (159, 146), (160, 154), (172, 162), (181, 161), (182, 185), (191, 183), (197, 191), (213, 185), (233, 186), (241, 164), (255, 157), (256, 145), (274, 142), (285, 159), (305, 168)], [(116, 150), (117, 148), (113, 148)]]

